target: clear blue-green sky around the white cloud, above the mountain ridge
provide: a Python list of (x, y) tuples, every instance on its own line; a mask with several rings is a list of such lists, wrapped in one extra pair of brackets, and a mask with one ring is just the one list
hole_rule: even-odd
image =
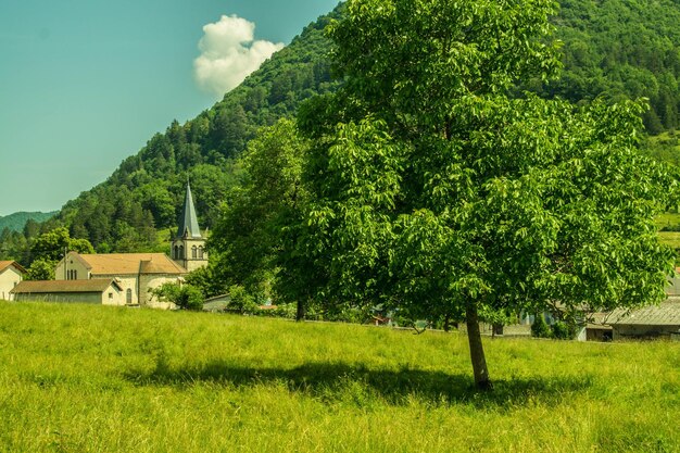
[[(263, 41), (240, 45), (239, 58), (257, 53), (262, 59), (261, 49), (289, 43), (337, 3), (1, 0), (0, 180), (5, 196), (0, 215), (60, 209), (103, 181), (174, 118), (184, 123), (214, 104), (221, 98), (216, 90), (226, 89), (216, 77), (230, 80), (235, 74), (229, 72), (252, 64), (237, 61), (239, 67), (225, 70), (217, 64), (224, 63), (219, 54), (215, 60), (216, 50), (229, 47), (221, 39), (234, 45), (249, 33), (248, 23), (232, 15), (253, 23), (254, 40)], [(241, 35), (229, 37), (235, 27), (242, 28)], [(194, 70), (201, 54), (202, 79)]]

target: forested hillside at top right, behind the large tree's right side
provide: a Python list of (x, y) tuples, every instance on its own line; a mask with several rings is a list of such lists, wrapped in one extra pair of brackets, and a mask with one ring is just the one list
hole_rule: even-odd
[(680, 124), (680, 1), (561, 0), (565, 70), (542, 89), (570, 101), (650, 99), (647, 130)]

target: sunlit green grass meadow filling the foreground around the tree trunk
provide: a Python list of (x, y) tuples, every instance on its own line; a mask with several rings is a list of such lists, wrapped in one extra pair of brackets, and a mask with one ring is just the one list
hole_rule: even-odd
[(679, 452), (680, 343), (0, 302), (2, 452)]

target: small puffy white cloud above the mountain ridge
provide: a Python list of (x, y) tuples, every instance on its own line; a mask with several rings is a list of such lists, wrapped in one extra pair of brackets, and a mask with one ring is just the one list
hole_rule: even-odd
[(282, 43), (254, 41), (255, 24), (236, 15), (203, 26), (201, 55), (193, 61), (193, 76), (201, 89), (223, 96), (243, 79)]

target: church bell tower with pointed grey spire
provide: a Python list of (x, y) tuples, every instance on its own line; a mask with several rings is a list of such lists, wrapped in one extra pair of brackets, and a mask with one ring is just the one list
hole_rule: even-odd
[(175, 263), (189, 272), (207, 266), (205, 238), (203, 238), (199, 228), (199, 219), (196, 215), (189, 181), (187, 181), (185, 205), (177, 222), (177, 232), (172, 241), (171, 254)]

